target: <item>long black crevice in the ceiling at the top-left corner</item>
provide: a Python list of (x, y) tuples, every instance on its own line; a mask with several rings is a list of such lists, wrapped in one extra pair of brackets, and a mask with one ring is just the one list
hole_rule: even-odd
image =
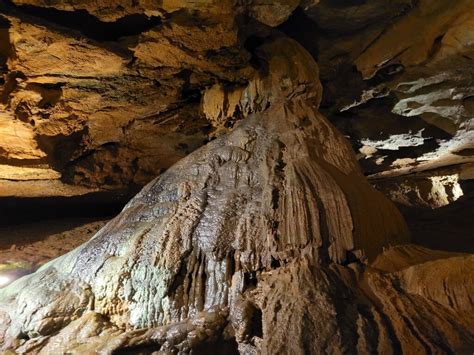
[(63, 11), (31, 5), (16, 6), (10, 0), (0, 3), (0, 12), (26, 14), (50, 23), (73, 29), (96, 41), (117, 41), (136, 36), (161, 24), (160, 17), (142, 14), (124, 16), (114, 22), (103, 22), (85, 10)]

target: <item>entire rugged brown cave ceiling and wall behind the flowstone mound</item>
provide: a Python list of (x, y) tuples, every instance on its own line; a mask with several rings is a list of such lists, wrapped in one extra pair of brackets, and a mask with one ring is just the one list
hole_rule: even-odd
[[(470, 0), (13, 0), (0, 12), (0, 197), (138, 191), (256, 112), (235, 92), (258, 67), (257, 21), (317, 58), (323, 112), (372, 152), (359, 160), (381, 189), (403, 174), (416, 194), (412, 173), (474, 161)], [(209, 87), (228, 116), (209, 115)]]

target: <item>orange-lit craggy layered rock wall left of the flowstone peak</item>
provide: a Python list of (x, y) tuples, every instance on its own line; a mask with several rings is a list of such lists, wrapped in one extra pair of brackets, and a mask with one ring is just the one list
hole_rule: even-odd
[[(18, 183), (31, 195), (37, 180), (53, 196), (59, 183), (69, 195), (81, 193), (77, 186), (143, 186), (209, 140), (201, 91), (253, 73), (233, 13), (212, 17), (203, 7), (111, 24), (69, 11), (81, 4), (90, 3), (53, 13), (39, 2), (0, 9), (0, 163), (17, 174), (41, 169)], [(107, 20), (120, 8), (109, 5), (99, 10)], [(20, 180), (3, 171), (0, 179)]]

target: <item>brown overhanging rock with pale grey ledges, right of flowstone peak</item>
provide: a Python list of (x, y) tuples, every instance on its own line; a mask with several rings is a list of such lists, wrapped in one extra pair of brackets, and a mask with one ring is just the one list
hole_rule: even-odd
[[(324, 112), (351, 137), (365, 173), (382, 189), (403, 175), (416, 195), (426, 185), (418, 172), (436, 177), (454, 165), (463, 171), (456, 178), (467, 175), (474, 159), (473, 14), (472, 1), (444, 0), (327, 1), (307, 9), (326, 31), (317, 53)], [(445, 180), (441, 190), (450, 189)]]

